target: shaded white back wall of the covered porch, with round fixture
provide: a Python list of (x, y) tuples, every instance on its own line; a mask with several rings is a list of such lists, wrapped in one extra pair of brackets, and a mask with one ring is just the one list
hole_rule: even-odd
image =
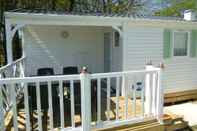
[[(69, 33), (63, 38), (62, 31)], [(56, 74), (66, 66), (88, 66), (90, 72), (104, 71), (103, 31), (92, 27), (28, 26), (24, 29), (27, 75), (41, 67)]]

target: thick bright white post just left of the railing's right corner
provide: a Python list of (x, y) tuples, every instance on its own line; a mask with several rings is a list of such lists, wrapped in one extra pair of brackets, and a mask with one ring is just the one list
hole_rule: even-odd
[[(146, 65), (146, 71), (151, 71), (153, 69), (152, 64)], [(145, 74), (145, 115), (150, 115), (152, 113), (152, 87), (151, 87), (151, 74)]]

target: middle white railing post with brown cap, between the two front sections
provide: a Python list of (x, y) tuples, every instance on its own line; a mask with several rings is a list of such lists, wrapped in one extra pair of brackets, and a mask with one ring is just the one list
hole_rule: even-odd
[(91, 83), (86, 68), (80, 74), (82, 131), (91, 130)]

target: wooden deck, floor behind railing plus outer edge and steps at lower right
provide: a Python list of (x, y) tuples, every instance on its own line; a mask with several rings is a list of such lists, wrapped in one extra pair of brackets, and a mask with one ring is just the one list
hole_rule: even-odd
[[(105, 96), (101, 98), (101, 120), (105, 121), (107, 120), (107, 99)], [(134, 117), (134, 116), (140, 116), (142, 113), (142, 103), (140, 99), (136, 100), (136, 113), (133, 110), (133, 100), (128, 99), (128, 117)], [(125, 98), (119, 97), (119, 119), (123, 120), (125, 119)], [(59, 105), (57, 105), (57, 108), (54, 109), (54, 127), (55, 130), (59, 130), (58, 127), (60, 127), (60, 111), (58, 108)], [(71, 116), (70, 116), (70, 107), (69, 103), (65, 103), (65, 127), (71, 126)], [(75, 106), (75, 124), (76, 126), (81, 125), (81, 113), (80, 110), (78, 110), (80, 105)], [(96, 104), (92, 105), (92, 123), (94, 124), (97, 120), (97, 111), (96, 111)], [(110, 120), (114, 120), (116, 118), (116, 98), (111, 97), (110, 100)], [(165, 112), (164, 121), (165, 126), (161, 126), (158, 122), (152, 120), (147, 121), (143, 123), (138, 123), (134, 125), (126, 125), (126, 126), (120, 126), (116, 128), (111, 128), (103, 131), (128, 131), (128, 130), (136, 130), (136, 131), (157, 131), (157, 130), (167, 130), (172, 131), (173, 129), (181, 129), (188, 127), (188, 122), (183, 121), (182, 116), (172, 114), (170, 112)], [(5, 120), (5, 126), (7, 131), (14, 131), (13, 125), (12, 125), (12, 112), (9, 112), (7, 114), (6, 120)], [(48, 114), (49, 115), (49, 114)], [(37, 125), (37, 113), (34, 111), (33, 118), (31, 119), (33, 123), (33, 130), (36, 130), (38, 127)], [(178, 123), (176, 123), (178, 121)], [(180, 123), (181, 121), (181, 123)], [(18, 127), (20, 131), (25, 131), (25, 112), (23, 104), (18, 105)], [(49, 129), (49, 118), (47, 118), (47, 121), (43, 121), (43, 130), (46, 131)]]

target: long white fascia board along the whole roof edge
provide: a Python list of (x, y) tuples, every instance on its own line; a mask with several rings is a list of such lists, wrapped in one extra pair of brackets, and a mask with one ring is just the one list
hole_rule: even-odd
[(13, 24), (29, 25), (78, 25), (78, 26), (122, 26), (128, 23), (130, 26), (173, 28), (173, 29), (197, 29), (197, 22), (143, 19), (129, 17), (110, 16), (83, 16), (83, 15), (59, 15), (42, 13), (15, 13), (5, 12), (5, 18)]

